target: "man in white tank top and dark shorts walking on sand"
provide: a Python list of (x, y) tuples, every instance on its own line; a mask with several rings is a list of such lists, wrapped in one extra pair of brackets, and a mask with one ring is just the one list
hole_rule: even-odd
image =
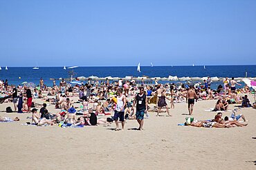
[(117, 105), (115, 109), (115, 114), (113, 115), (113, 119), (116, 121), (116, 131), (120, 130), (118, 125), (118, 118), (120, 122), (122, 122), (122, 130), (125, 127), (125, 105), (127, 103), (125, 95), (122, 94), (122, 89), (118, 88), (116, 90), (117, 96)]

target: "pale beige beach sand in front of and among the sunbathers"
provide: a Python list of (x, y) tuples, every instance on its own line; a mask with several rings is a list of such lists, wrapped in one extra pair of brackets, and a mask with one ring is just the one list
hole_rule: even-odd
[[(249, 95), (250, 101), (253, 96)], [(37, 99), (37, 103), (42, 100)], [(205, 111), (216, 100), (195, 103), (193, 117), (214, 118), (217, 112)], [(0, 110), (12, 103), (3, 103)], [(153, 106), (153, 105), (152, 105)], [(57, 112), (53, 105), (50, 112)], [(236, 108), (230, 105), (230, 109)], [(149, 113), (144, 131), (136, 120), (125, 123), (125, 131), (98, 125), (84, 128), (24, 126), (31, 114), (6, 114), (18, 123), (0, 123), (1, 169), (256, 169), (256, 110), (239, 113), (249, 120), (247, 127), (229, 129), (178, 126), (185, 122), (188, 104), (175, 104), (167, 113)], [(230, 116), (230, 111), (223, 116)]]

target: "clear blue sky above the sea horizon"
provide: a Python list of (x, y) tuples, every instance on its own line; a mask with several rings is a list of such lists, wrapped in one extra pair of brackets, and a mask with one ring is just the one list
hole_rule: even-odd
[(0, 1), (0, 66), (249, 65), (256, 1)]

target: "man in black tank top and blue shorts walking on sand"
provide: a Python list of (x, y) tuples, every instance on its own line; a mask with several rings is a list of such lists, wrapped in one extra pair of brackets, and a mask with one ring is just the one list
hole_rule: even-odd
[(140, 92), (134, 98), (134, 105), (131, 108), (131, 111), (134, 110), (134, 106), (136, 104), (136, 119), (140, 127), (138, 130), (143, 130), (143, 123), (144, 123), (144, 114), (147, 112), (147, 96), (144, 93), (144, 88), (140, 87)]

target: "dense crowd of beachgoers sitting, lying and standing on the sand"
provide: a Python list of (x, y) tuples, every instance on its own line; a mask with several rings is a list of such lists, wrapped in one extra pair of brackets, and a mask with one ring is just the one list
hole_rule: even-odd
[[(56, 85), (54, 80), (53, 87), (47, 87), (41, 78), (37, 87), (26, 85), (15, 87), (15, 85), (8, 85), (8, 80), (6, 80), (0, 84), (0, 90), (8, 96), (5, 96), (4, 100), (14, 104), (13, 111), (32, 112), (30, 124), (38, 126), (54, 124), (62, 127), (109, 125), (115, 121), (115, 130), (118, 131), (125, 128), (126, 120), (136, 119), (138, 129), (143, 130), (144, 117), (148, 116), (148, 111), (154, 111), (156, 116), (160, 116), (159, 114), (165, 109), (167, 116), (172, 116), (170, 109), (174, 109), (174, 103), (187, 102), (190, 115), (193, 114), (194, 103), (197, 100), (217, 100), (214, 111), (226, 111), (228, 106), (234, 103), (241, 107), (251, 107), (248, 96), (241, 96), (241, 93), (248, 93), (250, 89), (247, 87), (244, 87), (244, 90), (236, 89), (235, 85), (241, 84), (237, 83), (234, 78), (231, 78), (231, 81), (226, 78), (223, 81), (223, 86), (219, 85), (217, 90), (211, 89), (211, 83), (212, 81), (208, 77), (202, 84), (194, 85), (190, 83), (166, 83), (163, 85), (158, 81), (155, 81), (154, 85), (145, 85), (143, 81), (141, 85), (136, 85), (136, 81), (133, 79), (124, 81), (120, 78), (119, 81), (112, 82), (89, 80), (85, 84), (72, 86), (62, 78), (59, 85)], [(77, 97), (79, 100), (71, 100), (73, 97)], [(35, 98), (41, 98), (44, 100), (44, 104), (35, 103), (33, 100)], [(149, 107), (149, 103), (154, 105)], [(167, 103), (170, 103), (170, 107)], [(50, 113), (46, 109), (47, 105), (55, 105), (55, 113)], [(80, 105), (80, 107), (75, 105)], [(253, 107), (255, 107), (255, 103)], [(112, 113), (113, 116), (111, 116)], [(17, 121), (19, 118), (0, 119), (3, 122), (11, 120)], [(119, 123), (122, 128), (119, 127)], [(205, 126), (205, 122), (194, 121), (191, 125)], [(230, 127), (231, 125), (238, 126), (239, 124), (230, 122), (228, 124), (223, 121), (212, 124), (214, 127)]]

